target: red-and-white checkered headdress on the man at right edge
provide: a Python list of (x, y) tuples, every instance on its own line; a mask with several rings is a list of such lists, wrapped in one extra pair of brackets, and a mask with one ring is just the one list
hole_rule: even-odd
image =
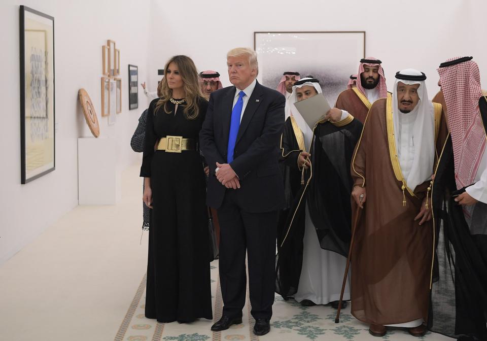
[[(448, 61), (459, 59), (450, 58)], [(471, 185), (487, 143), (478, 100), (482, 96), (478, 65), (467, 60), (437, 69), (448, 112), (457, 189)]]

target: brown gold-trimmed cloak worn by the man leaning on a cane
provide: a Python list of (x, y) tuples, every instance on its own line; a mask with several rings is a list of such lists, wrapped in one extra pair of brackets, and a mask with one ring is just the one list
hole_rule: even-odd
[[(412, 190), (403, 188), (397, 155), (390, 153), (396, 149), (393, 131), (392, 99), (376, 100), (351, 166), (354, 185), (367, 189), (351, 254), (352, 314), (369, 324), (427, 321), (428, 317), (434, 222), (419, 225), (414, 217), (421, 210), (430, 181)], [(435, 131), (431, 133), (437, 137), (437, 156), (447, 135), (437, 104)], [(357, 209), (353, 203), (353, 217)]]

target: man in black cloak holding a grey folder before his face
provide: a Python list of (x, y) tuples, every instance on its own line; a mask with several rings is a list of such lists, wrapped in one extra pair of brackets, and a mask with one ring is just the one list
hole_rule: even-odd
[(333, 108), (311, 129), (294, 103), (321, 94), (313, 78), (293, 86), (281, 141), (287, 205), (277, 231), (275, 290), (302, 305), (336, 308), (351, 234), (350, 162), (363, 126)]

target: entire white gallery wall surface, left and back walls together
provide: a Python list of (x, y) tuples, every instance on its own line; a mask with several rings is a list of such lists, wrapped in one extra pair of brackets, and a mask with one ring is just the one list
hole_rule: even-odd
[[(19, 5), (55, 18), (56, 170), (26, 185), (20, 185)], [(219, 71), (227, 86), (226, 52), (253, 47), (254, 31), (358, 30), (366, 31), (366, 55), (384, 62), (390, 90), (396, 71), (414, 67), (427, 74), (433, 97), (436, 67), (453, 56), (473, 55), (487, 88), (484, 13), (487, 3), (476, 0), (2, 0), (0, 264), (78, 204), (77, 140), (91, 136), (78, 103), (80, 88), (93, 101), (101, 137), (117, 142), (121, 171), (140, 158), (129, 142), (148, 106), (139, 87), (139, 108), (128, 110), (129, 63), (139, 66), (140, 82), (147, 80), (151, 91), (160, 79), (157, 69), (175, 54), (192, 57), (199, 71)], [(111, 126), (100, 116), (101, 46), (107, 39), (121, 51), (122, 113)]]

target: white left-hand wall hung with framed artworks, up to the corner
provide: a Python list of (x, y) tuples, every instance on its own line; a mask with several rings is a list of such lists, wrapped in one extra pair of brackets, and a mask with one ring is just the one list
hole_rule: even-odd
[[(19, 5), (53, 16), (55, 28), (56, 169), (25, 185), (20, 184)], [(78, 138), (92, 137), (78, 101), (80, 88), (91, 97), (100, 137), (116, 141), (117, 168), (124, 169), (137, 159), (130, 149), (130, 137), (147, 100), (140, 93), (139, 109), (128, 110), (127, 64), (138, 65), (139, 77), (145, 78), (149, 14), (149, 0), (0, 3), (0, 60), (4, 65), (0, 83), (0, 264), (78, 204)], [(101, 46), (107, 39), (114, 40), (120, 50), (122, 78), (122, 113), (110, 126), (107, 117), (101, 117)]]

